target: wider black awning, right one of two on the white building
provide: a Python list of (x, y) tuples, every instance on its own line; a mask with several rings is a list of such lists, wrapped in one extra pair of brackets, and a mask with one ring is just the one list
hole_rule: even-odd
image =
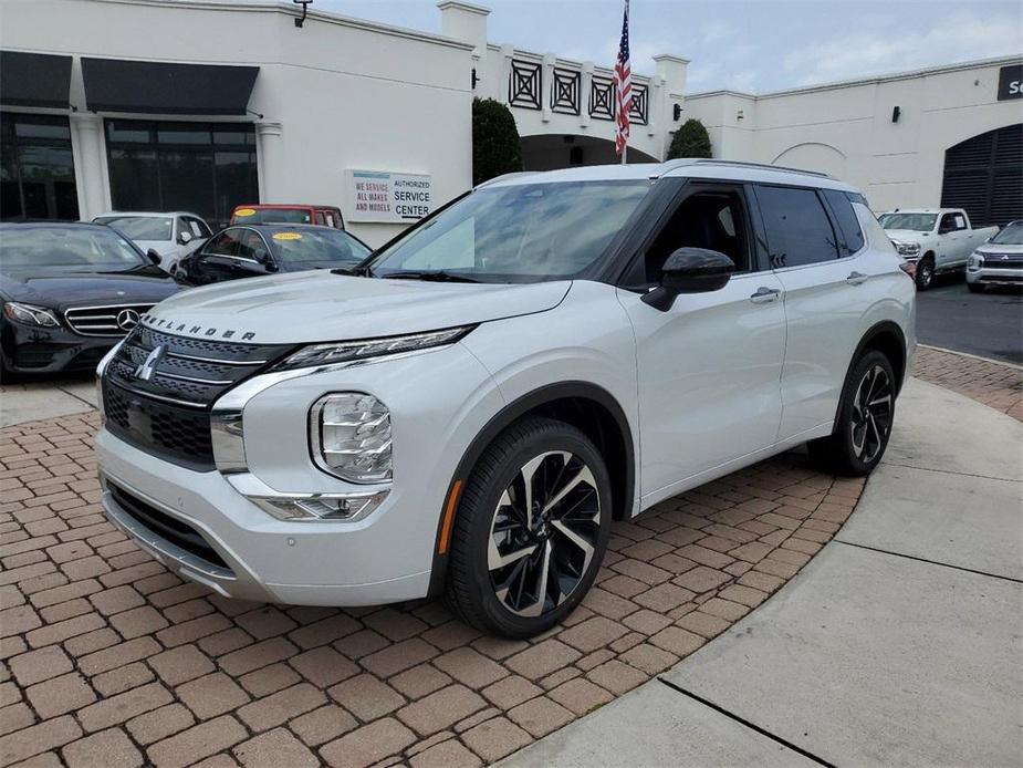
[(82, 59), (93, 112), (243, 115), (258, 66)]

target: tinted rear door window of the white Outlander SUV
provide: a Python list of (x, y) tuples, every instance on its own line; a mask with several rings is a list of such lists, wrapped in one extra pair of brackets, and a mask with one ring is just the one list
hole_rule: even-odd
[(814, 189), (758, 187), (771, 267), (783, 269), (838, 257), (835, 232)]

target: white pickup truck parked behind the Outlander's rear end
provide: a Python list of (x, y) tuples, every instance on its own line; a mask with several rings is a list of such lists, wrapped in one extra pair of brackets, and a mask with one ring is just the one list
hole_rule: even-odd
[(962, 208), (894, 210), (878, 217), (896, 250), (917, 264), (917, 288), (926, 291), (939, 272), (965, 269), (978, 246), (998, 233), (998, 227), (974, 229)]

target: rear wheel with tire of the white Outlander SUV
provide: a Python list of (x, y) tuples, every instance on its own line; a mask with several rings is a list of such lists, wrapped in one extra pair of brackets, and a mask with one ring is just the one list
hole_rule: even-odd
[(836, 475), (874, 471), (891, 435), (895, 388), (888, 357), (876, 350), (864, 354), (846, 376), (835, 432), (808, 444), (811, 458)]

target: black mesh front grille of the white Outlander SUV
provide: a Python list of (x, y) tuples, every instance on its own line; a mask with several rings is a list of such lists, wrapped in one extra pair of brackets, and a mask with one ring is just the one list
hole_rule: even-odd
[[(157, 349), (152, 375), (140, 377)], [(189, 339), (139, 325), (103, 377), (107, 428), (146, 453), (198, 471), (211, 470), (213, 403), (290, 349)]]

